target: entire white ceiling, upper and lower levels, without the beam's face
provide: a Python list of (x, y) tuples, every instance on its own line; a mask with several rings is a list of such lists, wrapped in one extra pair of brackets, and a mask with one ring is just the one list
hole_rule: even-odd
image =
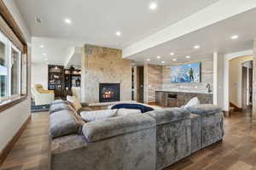
[[(154, 0), (157, 1), (158, 8), (152, 11), (148, 9), (148, 3), (152, 1), (37, 0), (35, 3), (32, 0), (15, 0), (32, 32), (32, 62), (45, 63), (44, 59), (47, 58), (50, 64), (56, 65), (64, 65), (74, 47), (90, 43), (124, 49), (166, 26), (184, 20), (191, 14), (198, 14), (201, 9), (206, 9), (207, 12), (207, 8), (213, 8), (221, 2)], [(225, 2), (231, 4), (232, 0)], [(239, 1), (236, 0), (237, 2)], [(254, 1), (245, 0), (242, 3), (250, 7)], [(169, 65), (173, 63), (173, 58), (177, 58), (177, 62), (186, 61), (186, 55), (190, 55), (191, 59), (201, 59), (212, 56), (213, 52), (227, 54), (251, 49), (253, 38), (256, 37), (256, 18), (253, 17), (255, 14), (256, 9), (238, 14), (228, 20), (222, 20), (212, 26), (133, 54), (128, 59), (143, 63), (149, 58), (150, 63), (157, 65), (165, 60), (165, 65)], [(42, 24), (36, 23), (35, 17), (39, 17)], [(63, 22), (65, 18), (70, 18), (73, 23), (68, 26)], [(121, 31), (121, 37), (115, 36), (115, 31)], [(239, 34), (240, 37), (232, 41), (230, 36), (234, 34)], [(40, 48), (42, 44), (44, 48)], [(201, 49), (193, 49), (195, 44), (201, 45)], [(171, 56), (171, 52), (176, 55)], [(44, 56), (44, 53), (47, 55)], [(161, 59), (156, 59), (157, 55), (160, 55)]]

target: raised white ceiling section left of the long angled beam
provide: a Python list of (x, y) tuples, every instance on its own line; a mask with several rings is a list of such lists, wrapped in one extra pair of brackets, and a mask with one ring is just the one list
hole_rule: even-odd
[[(63, 58), (75, 46), (85, 43), (125, 48), (138, 40), (183, 20), (218, 0), (156, 0), (158, 8), (148, 9), (152, 0), (15, 0), (32, 32), (32, 62), (63, 65)], [(35, 22), (35, 17), (42, 24)], [(70, 18), (72, 24), (63, 22)], [(115, 32), (121, 31), (121, 37)], [(45, 48), (39, 48), (41, 44)]]

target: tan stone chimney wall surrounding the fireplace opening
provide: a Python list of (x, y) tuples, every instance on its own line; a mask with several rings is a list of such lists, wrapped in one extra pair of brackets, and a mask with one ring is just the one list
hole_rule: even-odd
[(120, 100), (131, 100), (131, 60), (121, 50), (85, 44), (82, 58), (83, 102), (99, 102), (99, 83), (120, 83)]

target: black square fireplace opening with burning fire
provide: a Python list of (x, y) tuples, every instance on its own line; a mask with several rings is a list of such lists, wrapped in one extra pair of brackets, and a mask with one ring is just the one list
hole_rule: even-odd
[(120, 100), (119, 83), (100, 83), (100, 102), (113, 102)]

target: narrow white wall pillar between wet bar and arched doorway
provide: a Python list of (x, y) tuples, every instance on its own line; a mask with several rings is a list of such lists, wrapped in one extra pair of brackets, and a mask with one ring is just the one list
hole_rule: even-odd
[(224, 55), (213, 54), (213, 104), (224, 108)]

